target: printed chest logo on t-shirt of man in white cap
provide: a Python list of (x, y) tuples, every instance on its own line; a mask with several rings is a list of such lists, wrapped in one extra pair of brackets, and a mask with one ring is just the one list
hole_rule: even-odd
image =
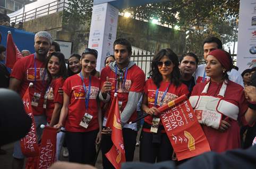
[[(36, 68), (36, 80), (45, 80), (47, 79), (47, 73), (44, 73), (45, 68)], [(35, 80), (35, 68), (27, 69), (27, 80)]]

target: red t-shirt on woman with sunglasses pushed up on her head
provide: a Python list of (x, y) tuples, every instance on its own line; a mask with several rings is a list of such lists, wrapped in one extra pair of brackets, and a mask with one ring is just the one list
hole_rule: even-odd
[[(89, 78), (84, 79), (84, 85), (88, 91)], [(69, 113), (67, 114), (65, 121), (66, 130), (69, 132), (90, 132), (92, 130), (98, 129), (98, 105), (96, 99), (100, 91), (100, 80), (96, 77), (91, 77), (91, 90), (88, 110), (86, 110), (83, 82), (78, 74), (75, 74), (65, 80), (63, 91), (70, 97)], [(88, 128), (84, 128), (79, 125), (86, 112), (93, 116)]]

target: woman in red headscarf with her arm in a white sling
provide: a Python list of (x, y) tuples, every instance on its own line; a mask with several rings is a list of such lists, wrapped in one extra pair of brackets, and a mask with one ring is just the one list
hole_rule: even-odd
[(206, 58), (206, 75), (210, 79), (195, 85), (189, 99), (214, 152), (239, 148), (240, 126), (251, 125), (255, 120), (255, 105), (248, 104), (243, 87), (228, 80), (227, 72), (232, 67), (228, 52), (211, 51)]

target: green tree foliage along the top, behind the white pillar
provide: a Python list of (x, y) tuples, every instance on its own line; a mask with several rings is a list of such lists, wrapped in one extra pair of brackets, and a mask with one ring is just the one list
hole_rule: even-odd
[[(139, 0), (138, 0), (139, 1)], [(234, 31), (239, 12), (239, 0), (170, 0), (164, 3), (122, 9), (133, 18), (151, 22), (159, 18), (159, 24), (174, 28), (180, 26), (185, 43), (184, 52), (190, 50), (202, 54), (202, 41), (208, 36), (220, 37), (223, 43), (234, 41)], [(84, 24), (91, 18), (92, 0), (69, 0), (69, 9), (64, 11), (65, 23)], [(148, 29), (151, 29), (149, 26)], [(149, 32), (149, 30), (146, 30)], [(189, 33), (185, 34), (185, 32)], [(189, 35), (189, 36), (187, 36)], [(185, 38), (187, 36), (187, 39)], [(173, 41), (170, 40), (170, 43)]]

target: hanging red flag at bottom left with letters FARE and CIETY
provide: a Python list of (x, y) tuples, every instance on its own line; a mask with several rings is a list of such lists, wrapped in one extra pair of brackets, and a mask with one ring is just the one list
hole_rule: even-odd
[(57, 128), (44, 128), (37, 162), (38, 169), (47, 169), (56, 161), (56, 136)]

